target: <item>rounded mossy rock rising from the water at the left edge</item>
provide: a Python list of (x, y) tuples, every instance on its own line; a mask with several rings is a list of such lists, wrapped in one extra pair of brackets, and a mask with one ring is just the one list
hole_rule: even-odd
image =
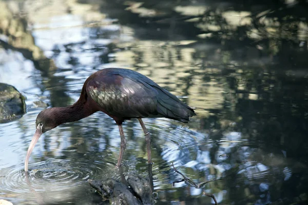
[(0, 123), (26, 113), (25, 97), (13, 86), (0, 83)]

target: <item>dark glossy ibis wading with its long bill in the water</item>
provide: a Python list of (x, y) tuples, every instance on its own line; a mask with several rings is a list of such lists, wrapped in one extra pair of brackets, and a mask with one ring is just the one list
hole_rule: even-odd
[(122, 127), (125, 120), (139, 120), (145, 135), (148, 163), (151, 163), (151, 138), (142, 118), (166, 117), (187, 123), (189, 117), (196, 115), (195, 111), (178, 97), (145, 75), (129, 69), (105, 68), (86, 79), (80, 97), (73, 105), (48, 108), (37, 115), (35, 133), (25, 159), (25, 171), (28, 171), (31, 152), (43, 133), (98, 111), (113, 118), (119, 127), (121, 143), (117, 167), (121, 166), (126, 148)]

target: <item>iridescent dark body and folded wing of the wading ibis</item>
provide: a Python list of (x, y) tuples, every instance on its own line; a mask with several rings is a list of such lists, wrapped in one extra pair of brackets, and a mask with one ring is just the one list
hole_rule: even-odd
[(129, 69), (107, 68), (95, 72), (83, 89), (117, 123), (136, 117), (167, 117), (188, 122), (189, 117), (196, 115), (175, 95)]

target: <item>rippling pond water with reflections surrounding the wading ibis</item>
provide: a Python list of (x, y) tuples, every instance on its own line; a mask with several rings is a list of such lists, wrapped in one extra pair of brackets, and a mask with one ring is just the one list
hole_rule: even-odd
[[(24, 160), (40, 111), (73, 104), (89, 75), (122, 67), (197, 113), (188, 124), (144, 120), (156, 204), (214, 203), (203, 191), (221, 204), (306, 203), (308, 18), (302, 5), (287, 3), (0, 1), (0, 82), (27, 97), (27, 113), (0, 124), (0, 198), (101, 204), (87, 180), (121, 177), (118, 126), (105, 114), (45, 133), (29, 175)], [(146, 177), (138, 120), (124, 132), (124, 175)], [(195, 183), (209, 182), (173, 186), (182, 177), (172, 163)]]

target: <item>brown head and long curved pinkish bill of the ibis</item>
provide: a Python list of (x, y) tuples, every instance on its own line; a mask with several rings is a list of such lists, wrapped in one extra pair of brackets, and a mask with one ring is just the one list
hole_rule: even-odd
[(57, 116), (57, 108), (48, 108), (40, 112), (37, 115), (35, 120), (35, 133), (30, 142), (30, 146), (28, 148), (26, 160), (25, 160), (25, 171), (28, 171), (28, 162), (31, 155), (31, 152), (37, 142), (37, 140), (41, 137), (44, 132), (47, 132), (61, 123), (59, 122), (59, 116)]

